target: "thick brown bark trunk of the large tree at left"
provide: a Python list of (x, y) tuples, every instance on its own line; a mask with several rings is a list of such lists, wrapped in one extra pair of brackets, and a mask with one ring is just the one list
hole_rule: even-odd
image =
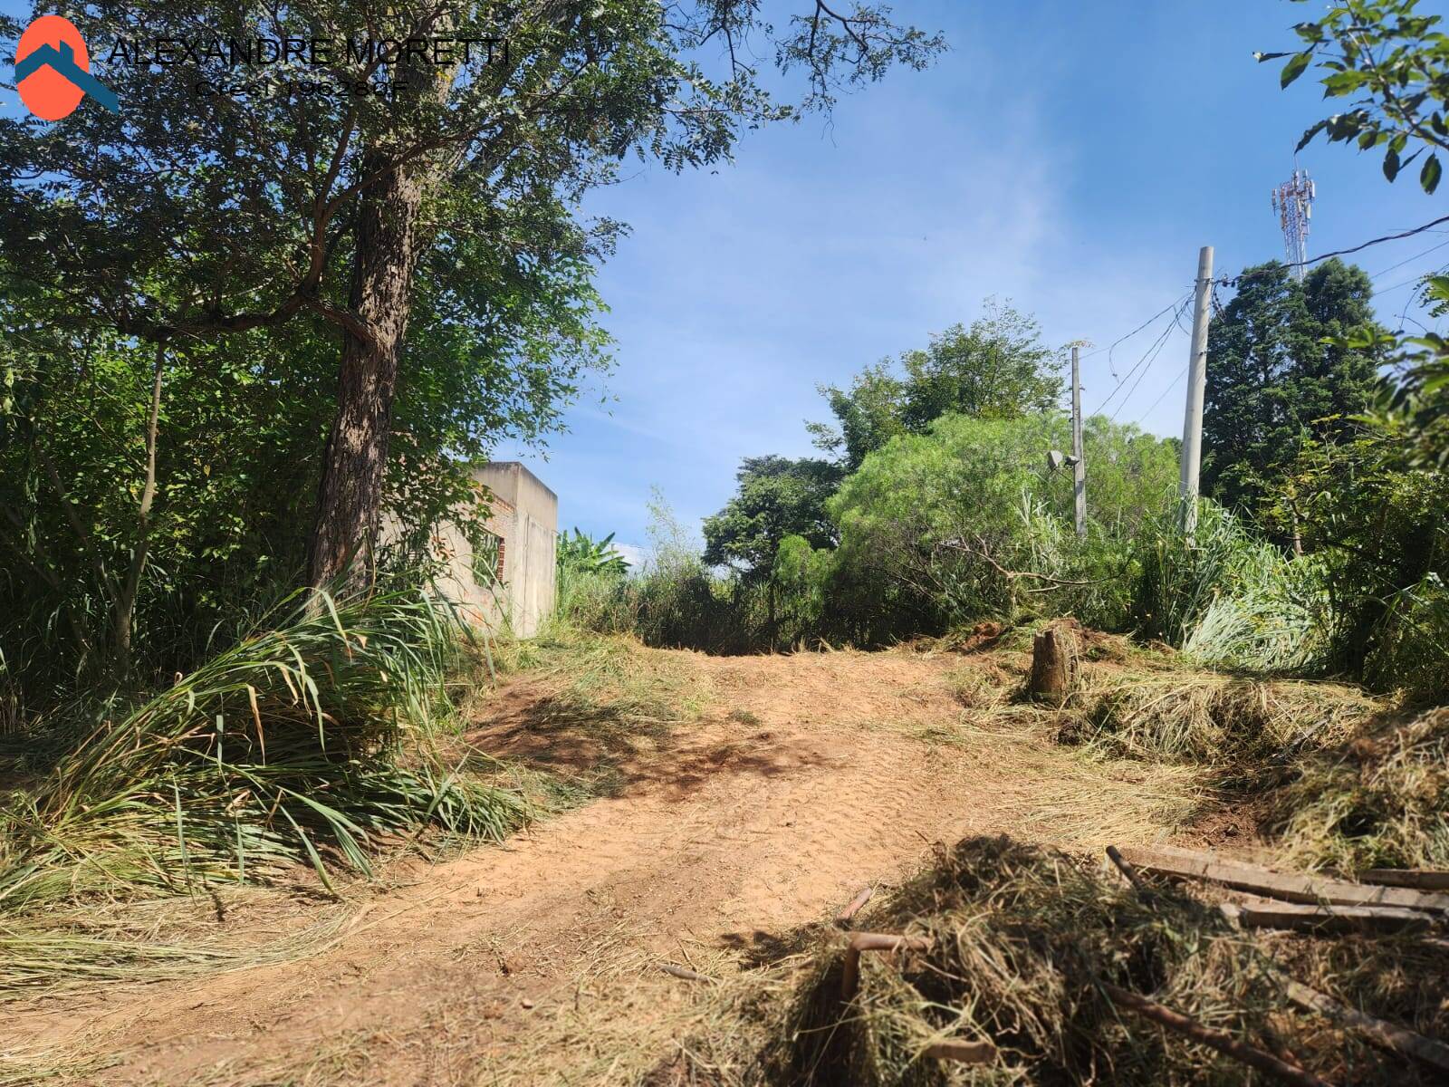
[(423, 194), (422, 164), (385, 170), (385, 158), (374, 149), (362, 164), (364, 177), (378, 174), (359, 199), (352, 272), (352, 312), (367, 335), (343, 332), (338, 413), (323, 452), (309, 554), (307, 577), (314, 587), (364, 586), (374, 568)]

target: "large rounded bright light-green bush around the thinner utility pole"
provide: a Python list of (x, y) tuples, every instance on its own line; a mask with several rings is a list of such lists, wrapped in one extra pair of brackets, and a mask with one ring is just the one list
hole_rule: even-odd
[(1068, 441), (1056, 415), (945, 416), (867, 457), (830, 503), (840, 523), (835, 581), (859, 612), (861, 641), (1048, 610), (1120, 625), (1130, 541), (1177, 458), (1133, 428), (1088, 420), (1094, 488), (1082, 544), (1071, 477), (1046, 468), (1046, 452)]

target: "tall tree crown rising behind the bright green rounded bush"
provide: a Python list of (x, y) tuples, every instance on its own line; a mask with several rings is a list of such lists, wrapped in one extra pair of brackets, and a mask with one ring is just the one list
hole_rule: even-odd
[[(897, 377), (895, 371), (904, 371)], [(988, 300), (969, 328), (952, 325), (924, 351), (862, 370), (851, 388), (822, 387), (836, 425), (810, 423), (816, 445), (848, 471), (903, 433), (924, 433), (948, 413), (1014, 419), (1056, 406), (1061, 359), (1043, 346), (1035, 319)]]

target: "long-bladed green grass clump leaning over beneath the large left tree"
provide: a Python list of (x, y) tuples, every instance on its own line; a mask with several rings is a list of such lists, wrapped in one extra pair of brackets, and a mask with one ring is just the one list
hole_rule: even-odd
[(338, 870), (368, 872), (385, 835), (497, 838), (525, 817), (432, 744), (461, 636), (445, 606), (309, 591), (271, 617), (0, 800), (0, 913), (298, 862), (330, 888)]

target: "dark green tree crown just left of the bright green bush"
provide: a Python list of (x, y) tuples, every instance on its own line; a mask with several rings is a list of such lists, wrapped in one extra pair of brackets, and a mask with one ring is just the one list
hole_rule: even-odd
[(769, 575), (780, 544), (804, 536), (811, 546), (835, 545), (826, 500), (840, 470), (813, 458), (746, 457), (739, 488), (719, 513), (704, 519), (704, 561), (740, 568), (751, 580)]

